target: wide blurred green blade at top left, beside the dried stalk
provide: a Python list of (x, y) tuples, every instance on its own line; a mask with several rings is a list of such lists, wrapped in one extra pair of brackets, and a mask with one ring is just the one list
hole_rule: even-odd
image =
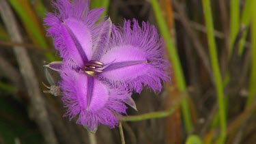
[[(48, 48), (42, 24), (40, 24), (38, 17), (33, 12), (31, 5), (29, 5), (29, 1), (9, 0), (9, 2), (12, 5), (12, 8), (14, 8), (16, 14), (20, 17), (20, 20), (22, 21), (32, 42), (42, 46), (43, 48)], [(45, 55), (49, 61), (55, 60), (55, 57), (51, 53), (45, 53)]]

